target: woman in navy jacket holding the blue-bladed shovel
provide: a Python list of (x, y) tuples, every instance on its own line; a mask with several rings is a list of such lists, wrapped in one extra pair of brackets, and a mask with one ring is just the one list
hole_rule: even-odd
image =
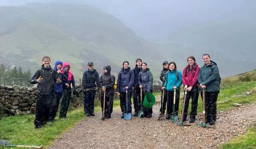
[(126, 90), (128, 91), (128, 113), (131, 113), (131, 95), (132, 87), (134, 84), (134, 71), (129, 67), (129, 62), (123, 62), (123, 68), (118, 74), (117, 78), (117, 95), (120, 96), (120, 108), (122, 111), (121, 118), (124, 118), (124, 113), (126, 112)]

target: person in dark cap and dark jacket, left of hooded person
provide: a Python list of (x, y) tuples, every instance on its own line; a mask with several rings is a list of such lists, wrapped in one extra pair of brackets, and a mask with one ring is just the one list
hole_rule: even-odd
[[(93, 62), (87, 64), (88, 69), (83, 74), (82, 86), (84, 89), (84, 114), (94, 115), (94, 98), (97, 87), (99, 87), (99, 73), (93, 69)], [(97, 85), (96, 85), (96, 84)]]

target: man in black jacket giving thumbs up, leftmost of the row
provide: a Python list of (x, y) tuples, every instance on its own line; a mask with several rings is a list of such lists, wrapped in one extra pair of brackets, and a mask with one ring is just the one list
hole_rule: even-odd
[(33, 77), (29, 80), (31, 84), (38, 84), (38, 93), (35, 111), (35, 129), (41, 128), (49, 121), (50, 109), (54, 98), (54, 83), (61, 84), (58, 79), (58, 72), (50, 66), (51, 59), (44, 56), (43, 65), (37, 70)]

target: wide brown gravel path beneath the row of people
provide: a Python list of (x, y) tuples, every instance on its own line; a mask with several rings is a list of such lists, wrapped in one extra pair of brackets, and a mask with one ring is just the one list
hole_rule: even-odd
[[(233, 136), (247, 132), (256, 122), (256, 103), (218, 112), (215, 125), (206, 128), (196, 125), (178, 126), (165, 116), (157, 120), (160, 103), (153, 106), (153, 117), (121, 119), (114, 111), (110, 119), (101, 120), (101, 112), (87, 117), (62, 135), (49, 149), (216, 149)], [(189, 124), (186, 120), (184, 125)]]

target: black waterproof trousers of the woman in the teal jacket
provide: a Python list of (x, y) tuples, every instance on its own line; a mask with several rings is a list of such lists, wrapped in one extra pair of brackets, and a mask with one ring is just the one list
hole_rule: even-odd
[(174, 91), (167, 91), (167, 114), (169, 115), (178, 115), (179, 102), (180, 102), (180, 91), (176, 91), (175, 97), (175, 113), (173, 114), (173, 99)]

